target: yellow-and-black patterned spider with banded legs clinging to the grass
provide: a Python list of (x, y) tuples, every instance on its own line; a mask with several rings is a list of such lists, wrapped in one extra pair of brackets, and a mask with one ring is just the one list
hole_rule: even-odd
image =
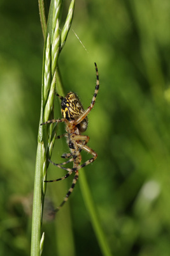
[[(59, 211), (59, 209), (66, 203), (66, 201), (69, 198), (69, 195), (73, 192), (74, 186), (78, 180), (78, 170), (83, 168), (84, 166), (87, 166), (88, 164), (92, 163), (97, 158), (97, 153), (92, 150), (89, 146), (87, 146), (87, 143), (89, 141), (89, 136), (81, 135), (82, 132), (85, 132), (88, 125), (88, 118), (87, 115), (89, 115), (90, 111), (94, 107), (94, 104), (96, 102), (97, 93), (99, 91), (99, 73), (97, 69), (96, 63), (94, 63), (96, 68), (96, 88), (94, 92), (94, 96), (92, 98), (92, 102), (86, 110), (83, 109), (83, 106), (80, 102), (80, 99), (78, 99), (78, 96), (73, 93), (69, 92), (67, 93), (66, 97), (60, 96), (58, 93), (55, 93), (61, 100), (61, 113), (62, 118), (61, 119), (52, 119), (48, 120), (47, 122), (44, 122), (41, 125), (44, 124), (50, 124), (55, 122), (64, 122), (66, 124), (66, 133), (57, 136), (57, 139), (60, 139), (62, 137), (66, 137), (67, 144), (70, 148), (71, 153), (62, 154), (61, 157), (68, 159), (68, 161), (60, 164), (52, 163), (53, 165), (62, 168), (64, 170), (67, 170), (67, 174), (64, 177), (61, 177), (60, 179), (55, 180), (45, 180), (45, 182), (54, 182), (59, 180), (64, 180), (67, 177), (69, 177), (72, 173), (74, 174), (73, 182), (71, 185), (71, 188), (69, 188), (69, 191), (66, 194), (66, 197), (62, 201), (62, 203), (57, 207), (55, 212)], [(85, 150), (86, 152), (92, 154), (92, 158), (85, 161), (85, 163), (81, 163), (81, 150)], [(73, 162), (73, 168), (65, 168), (63, 165)]]

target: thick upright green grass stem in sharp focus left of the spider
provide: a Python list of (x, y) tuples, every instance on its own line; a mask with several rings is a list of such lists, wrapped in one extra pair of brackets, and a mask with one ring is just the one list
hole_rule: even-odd
[[(43, 204), (45, 198), (46, 170), (48, 168), (48, 159), (52, 155), (52, 149), (56, 136), (57, 125), (40, 125), (49, 118), (53, 118), (53, 102), (55, 95), (55, 83), (59, 82), (59, 88), (62, 88), (60, 83), (59, 72), (57, 70), (57, 61), (60, 53), (60, 18), (62, 15), (61, 0), (52, 0), (50, 4), (48, 25), (45, 31), (45, 12), (43, 3), (39, 1), (39, 13), (43, 34), (46, 35), (44, 57), (43, 57), (43, 74), (42, 74), (42, 89), (41, 89), (41, 113), (39, 118), (38, 131), (38, 148), (36, 155), (36, 170), (34, 178), (34, 199), (32, 210), (32, 237), (31, 237), (31, 256), (39, 256), (43, 250), (45, 234), (41, 237), (41, 223), (43, 218)], [(73, 15), (73, 11), (72, 11)], [(42, 21), (43, 20), (43, 21)], [(70, 19), (70, 22), (72, 19)], [(69, 24), (70, 28), (71, 24)], [(67, 29), (67, 33), (69, 29)], [(57, 70), (57, 79), (56, 79)], [(60, 89), (61, 90), (61, 89)]]

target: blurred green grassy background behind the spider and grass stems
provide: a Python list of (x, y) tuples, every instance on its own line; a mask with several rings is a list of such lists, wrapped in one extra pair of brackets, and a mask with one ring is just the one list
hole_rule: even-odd
[[(80, 179), (85, 172), (113, 255), (170, 255), (169, 13), (169, 0), (76, 1), (59, 57), (64, 90), (78, 93), (84, 108), (94, 93), (94, 61), (99, 69), (85, 132), (98, 158)], [(1, 0), (0, 29), (0, 255), (29, 255), (43, 61), (37, 1)], [(55, 118), (59, 113), (55, 99)], [(68, 151), (64, 140), (57, 143)], [(52, 160), (60, 163), (64, 152), (54, 148)], [(49, 179), (63, 174), (48, 169)], [(60, 204), (71, 182), (48, 184), (45, 212)], [(43, 255), (102, 255), (80, 182), (42, 231)]]

